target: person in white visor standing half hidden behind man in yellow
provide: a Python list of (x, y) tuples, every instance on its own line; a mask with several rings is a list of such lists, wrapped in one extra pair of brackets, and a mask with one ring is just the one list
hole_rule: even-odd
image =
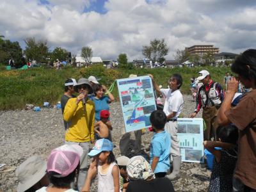
[[(64, 85), (65, 85), (65, 87), (64, 87), (65, 93), (62, 95), (61, 100), (60, 100), (62, 115), (64, 113), (64, 109), (68, 102), (68, 99), (76, 97), (75, 95), (73, 95), (75, 93), (74, 86), (76, 85), (76, 79), (67, 79), (65, 81)], [(65, 120), (64, 120), (65, 130), (67, 130), (67, 128), (68, 128), (68, 123), (70, 123), (70, 122), (65, 122)]]

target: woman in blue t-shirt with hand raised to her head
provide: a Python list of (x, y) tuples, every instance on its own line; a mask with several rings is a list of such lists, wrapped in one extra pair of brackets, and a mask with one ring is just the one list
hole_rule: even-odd
[(109, 104), (115, 100), (115, 97), (103, 84), (95, 84), (93, 88), (95, 97), (92, 97), (92, 101), (95, 104), (95, 120), (99, 122), (100, 111), (109, 111)]

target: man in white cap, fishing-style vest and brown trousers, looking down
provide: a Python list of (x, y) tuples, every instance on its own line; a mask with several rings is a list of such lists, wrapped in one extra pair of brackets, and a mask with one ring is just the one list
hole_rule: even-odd
[(204, 140), (211, 140), (211, 132), (215, 138), (216, 116), (221, 103), (224, 100), (224, 91), (220, 83), (216, 83), (211, 79), (210, 73), (207, 70), (201, 70), (197, 79), (202, 81), (203, 85), (199, 88), (196, 95), (196, 108), (191, 118), (203, 108), (203, 115), (206, 129), (204, 131)]

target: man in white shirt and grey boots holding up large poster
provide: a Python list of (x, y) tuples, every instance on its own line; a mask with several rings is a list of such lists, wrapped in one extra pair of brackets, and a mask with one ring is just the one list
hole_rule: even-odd
[(182, 86), (182, 77), (179, 74), (173, 74), (168, 81), (170, 88), (160, 89), (156, 81), (154, 81), (154, 77), (151, 74), (148, 76), (151, 77), (156, 92), (158, 94), (161, 93), (164, 97), (166, 97), (163, 111), (167, 116), (167, 123), (165, 124), (164, 129), (170, 133), (172, 139), (170, 155), (173, 158), (173, 172), (166, 177), (168, 177), (170, 180), (174, 180), (179, 178), (181, 162), (179, 140), (177, 137), (177, 118), (179, 117), (184, 106), (184, 100), (179, 90), (179, 88)]

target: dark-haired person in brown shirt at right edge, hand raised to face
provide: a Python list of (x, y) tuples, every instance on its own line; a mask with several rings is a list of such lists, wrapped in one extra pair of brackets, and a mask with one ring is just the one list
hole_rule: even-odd
[[(232, 123), (239, 129), (233, 191), (253, 191), (256, 189), (256, 49), (248, 49), (239, 55), (231, 70), (237, 77), (228, 81), (228, 90), (216, 120), (219, 125)], [(239, 80), (245, 88), (252, 90), (245, 93), (238, 104), (231, 108)]]

